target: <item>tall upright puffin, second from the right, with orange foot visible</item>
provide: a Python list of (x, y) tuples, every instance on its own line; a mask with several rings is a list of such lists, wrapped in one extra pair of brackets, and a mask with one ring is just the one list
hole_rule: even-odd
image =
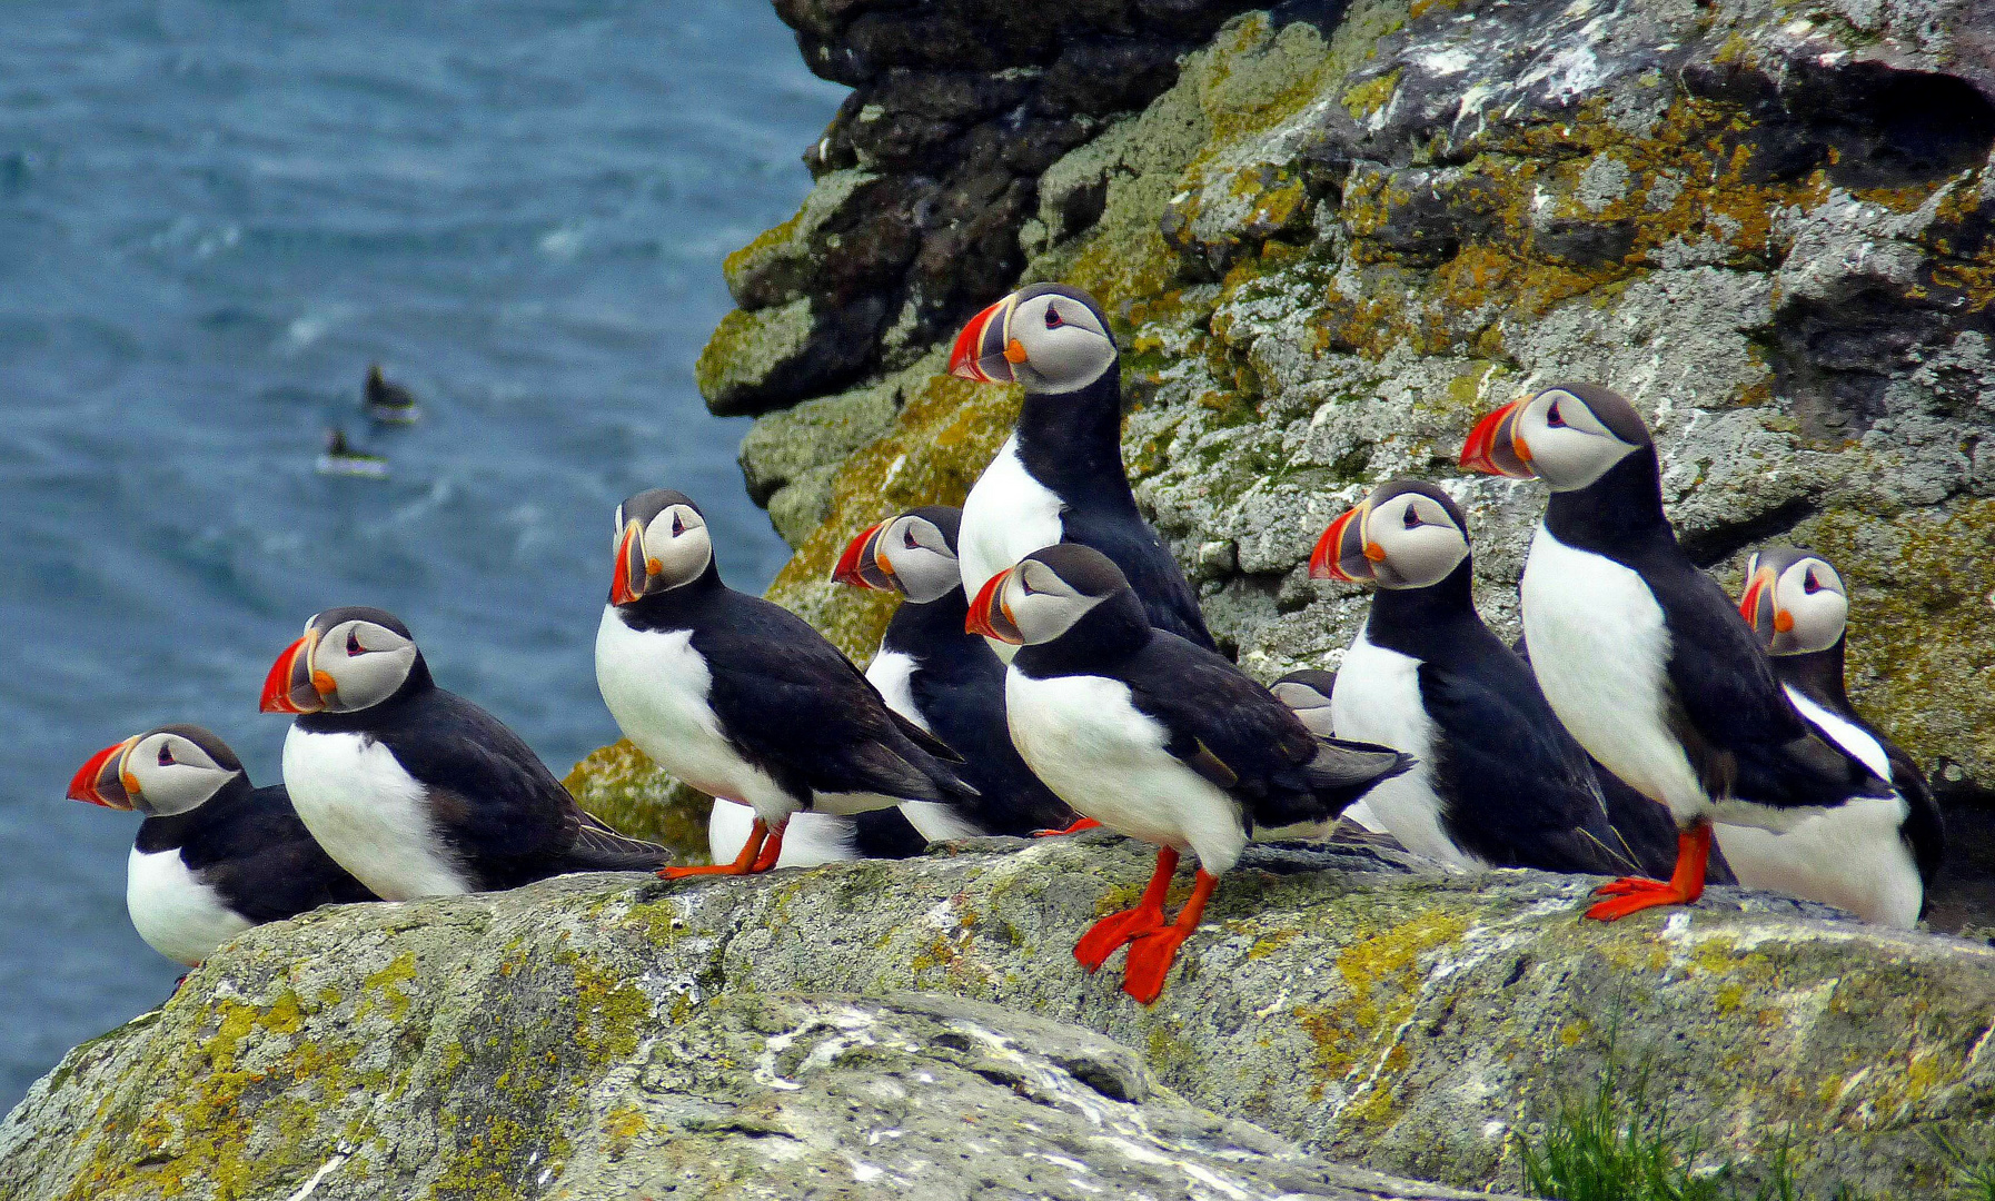
[(1550, 485), (1520, 589), (1532, 668), (1580, 746), (1676, 820), (1670, 880), (1604, 884), (1588, 918), (1694, 904), (1714, 820), (1782, 832), (1897, 796), (1801, 718), (1760, 636), (1678, 545), (1654, 437), (1624, 397), (1540, 389), (1484, 417), (1460, 463)]

